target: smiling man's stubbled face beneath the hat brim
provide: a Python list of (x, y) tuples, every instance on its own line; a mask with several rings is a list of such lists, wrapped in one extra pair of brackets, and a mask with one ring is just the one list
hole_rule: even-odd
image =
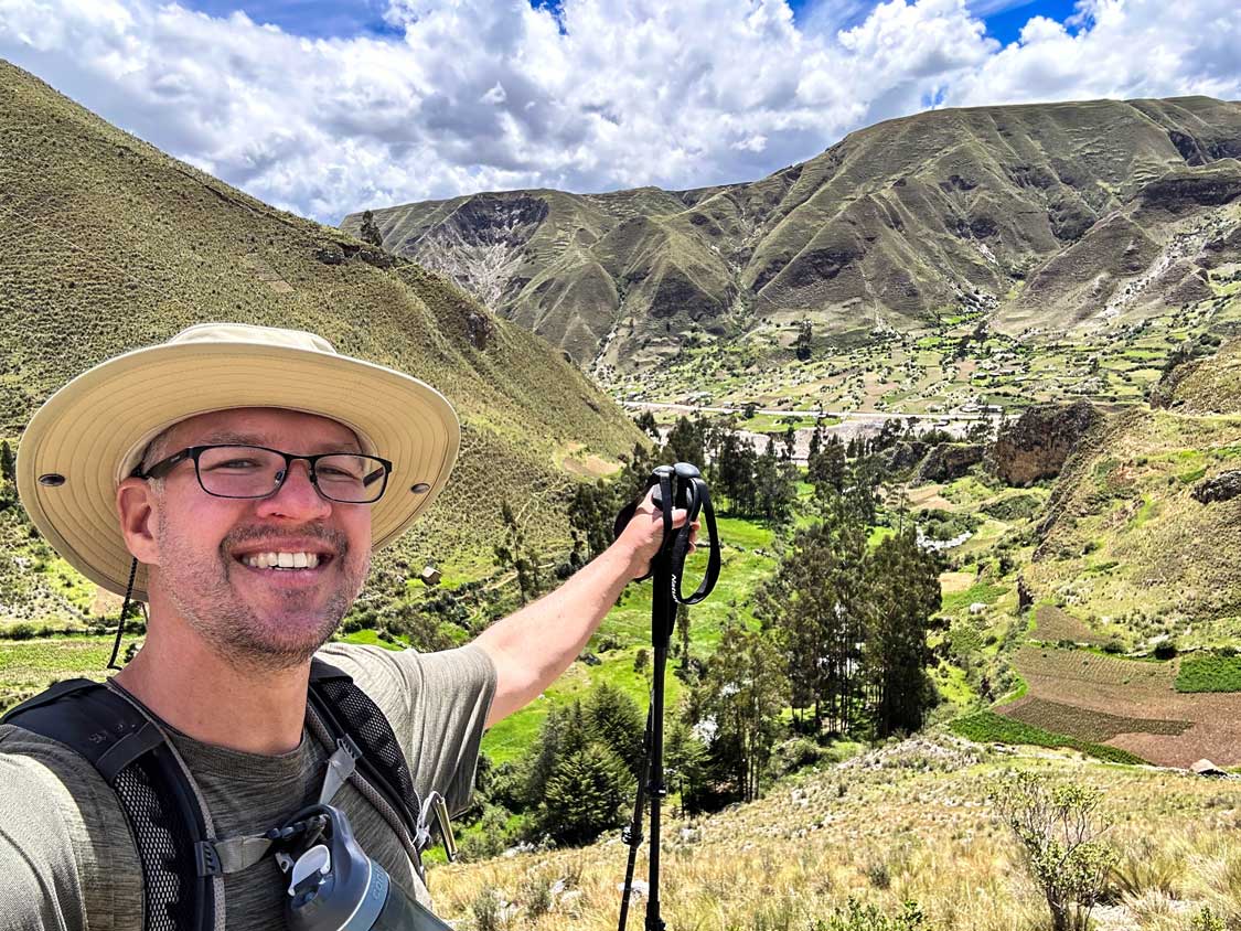
[[(161, 456), (208, 443), (307, 456), (360, 452), (354, 432), (336, 421), (254, 407), (182, 421)], [(294, 462), (280, 489), (257, 500), (207, 494), (194, 464), (184, 462), (164, 478), (155, 508), (153, 598), (165, 597), (204, 639), (240, 663), (267, 669), (304, 663), (335, 631), (366, 578), (370, 505), (323, 498), (305, 462)], [(307, 554), (318, 565), (269, 567), (264, 554)]]

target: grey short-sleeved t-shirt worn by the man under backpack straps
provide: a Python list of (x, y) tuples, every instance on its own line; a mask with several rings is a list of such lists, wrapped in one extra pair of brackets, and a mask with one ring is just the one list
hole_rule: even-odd
[[(438, 789), (452, 811), (464, 808), (495, 693), (486, 653), (475, 645), (419, 654), (336, 643), (319, 655), (349, 673), (387, 715), (418, 794)], [(279, 756), (168, 731), (206, 798), (217, 838), (261, 833), (318, 801), (328, 751), (307, 730), (297, 750)], [(366, 853), (429, 906), (427, 888), (370, 802), (349, 783), (333, 803)], [(228, 931), (283, 931), (287, 886), (272, 857), (225, 876)], [(115, 794), (63, 745), (0, 726), (0, 931), (141, 927), (141, 868)]]

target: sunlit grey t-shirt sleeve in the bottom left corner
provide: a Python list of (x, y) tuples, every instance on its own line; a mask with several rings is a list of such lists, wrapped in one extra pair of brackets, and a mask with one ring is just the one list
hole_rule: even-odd
[[(137, 868), (133, 843), (98, 773), (56, 741), (0, 726), (0, 931), (134, 927), (117, 915), (118, 864)], [(129, 891), (138, 904), (120, 911), (140, 920), (140, 886)]]

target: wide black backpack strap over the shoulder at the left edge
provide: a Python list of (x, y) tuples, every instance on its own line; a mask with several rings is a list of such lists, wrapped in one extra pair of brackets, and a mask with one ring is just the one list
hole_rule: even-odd
[(141, 863), (146, 931), (215, 927), (218, 864), (205, 843), (208, 816), (150, 717), (105, 685), (73, 679), (11, 709), (0, 724), (63, 744), (117, 793)]

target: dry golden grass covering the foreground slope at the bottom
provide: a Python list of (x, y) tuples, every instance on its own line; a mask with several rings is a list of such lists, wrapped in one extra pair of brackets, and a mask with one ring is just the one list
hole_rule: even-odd
[[(1188, 927), (1157, 924), (1167, 915), (1149, 896), (1169, 884), (1178, 907), (1210, 905), (1237, 915), (1235, 783), (1059, 755), (1000, 755), (941, 739), (869, 753), (712, 818), (666, 823), (664, 917), (675, 929), (808, 929), (854, 896), (890, 914), (913, 899), (934, 929), (1041, 931), (1046, 907), (987, 802), (990, 778), (1008, 765), (1103, 788), (1122, 850), (1184, 864), (1168, 881), (1138, 875), (1133, 895), (1118, 893), (1101, 910), (1101, 929)], [(1139, 840), (1145, 847), (1137, 848)], [(472, 902), (494, 890), (513, 905), (506, 927), (603, 931), (616, 926), (624, 861), (624, 845), (611, 839), (436, 868), (431, 888), (442, 914), (465, 920), (460, 927), (475, 926)], [(643, 857), (639, 876), (644, 869)], [(556, 880), (563, 891), (531, 917), (531, 890), (539, 905), (539, 890)], [(643, 915), (638, 901), (630, 926), (640, 927)]]

